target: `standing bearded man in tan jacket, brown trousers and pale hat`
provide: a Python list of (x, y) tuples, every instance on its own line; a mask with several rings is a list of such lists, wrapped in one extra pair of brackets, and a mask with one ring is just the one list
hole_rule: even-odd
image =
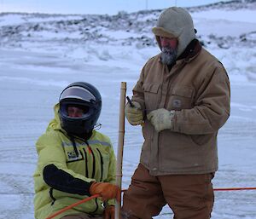
[(130, 124), (143, 124), (144, 142), (123, 218), (149, 219), (167, 204), (175, 219), (208, 219), (218, 130), (230, 116), (230, 81), (195, 38), (185, 9), (164, 10), (153, 32), (161, 53), (145, 64), (125, 107)]

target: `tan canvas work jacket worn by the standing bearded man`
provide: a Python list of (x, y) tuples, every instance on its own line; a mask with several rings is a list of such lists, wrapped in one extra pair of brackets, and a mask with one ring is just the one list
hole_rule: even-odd
[(140, 162), (153, 176), (218, 170), (218, 130), (230, 116), (230, 81), (224, 66), (197, 43), (169, 72), (160, 55), (143, 67), (132, 101), (145, 115), (175, 110), (172, 130), (157, 133), (145, 116)]

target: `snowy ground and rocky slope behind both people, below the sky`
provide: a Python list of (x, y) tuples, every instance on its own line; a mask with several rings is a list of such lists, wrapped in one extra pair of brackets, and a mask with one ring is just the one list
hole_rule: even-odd
[[(231, 115), (218, 135), (214, 187), (256, 187), (256, 7), (255, 1), (250, 2), (251, 9), (215, 7), (192, 14), (198, 36), (224, 63), (231, 82)], [(101, 91), (101, 131), (116, 149), (120, 82), (127, 82), (131, 95), (143, 64), (159, 52), (150, 32), (158, 14), (93, 18), (0, 14), (1, 219), (33, 218), (35, 141), (53, 117), (52, 107), (67, 84), (87, 81)], [(120, 17), (124, 26), (130, 20), (129, 32), (127, 26), (118, 27)], [(88, 32), (81, 24), (84, 18), (90, 23)], [(70, 22), (68, 28), (65, 22)], [(124, 188), (137, 167), (143, 142), (139, 127), (126, 123), (125, 129)], [(256, 218), (256, 190), (215, 195), (213, 219)], [(165, 207), (155, 218), (172, 218), (172, 210)]]

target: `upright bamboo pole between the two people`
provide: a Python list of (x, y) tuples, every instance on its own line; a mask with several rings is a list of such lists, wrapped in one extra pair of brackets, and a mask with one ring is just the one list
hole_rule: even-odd
[[(117, 153), (116, 165), (116, 185), (122, 189), (122, 167), (123, 167), (123, 149), (125, 141), (125, 95), (126, 95), (126, 82), (121, 83), (120, 90), (120, 103), (119, 103), (119, 142)], [(121, 197), (119, 197), (121, 198)], [(121, 200), (121, 199), (119, 199)], [(120, 218), (121, 201), (116, 200), (114, 218)]]

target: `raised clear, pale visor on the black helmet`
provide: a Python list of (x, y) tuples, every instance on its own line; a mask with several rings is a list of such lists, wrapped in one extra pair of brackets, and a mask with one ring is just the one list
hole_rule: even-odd
[(65, 89), (61, 93), (60, 101), (65, 99), (79, 99), (86, 102), (96, 101), (96, 97), (91, 94), (88, 89), (84, 89), (78, 86)]

